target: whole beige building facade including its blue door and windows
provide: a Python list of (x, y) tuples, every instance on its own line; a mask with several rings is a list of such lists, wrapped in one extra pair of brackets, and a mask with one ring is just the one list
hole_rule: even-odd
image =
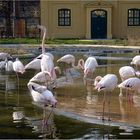
[(140, 36), (140, 0), (40, 0), (48, 38)]

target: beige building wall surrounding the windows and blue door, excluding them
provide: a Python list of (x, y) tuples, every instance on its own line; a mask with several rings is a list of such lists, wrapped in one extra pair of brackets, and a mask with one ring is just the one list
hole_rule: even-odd
[[(71, 9), (71, 26), (58, 26), (60, 8)], [(140, 8), (140, 0), (41, 0), (41, 24), (47, 27), (49, 38), (90, 38), (89, 13), (98, 8), (107, 11), (107, 38), (140, 36), (140, 26), (127, 26), (128, 9)]]

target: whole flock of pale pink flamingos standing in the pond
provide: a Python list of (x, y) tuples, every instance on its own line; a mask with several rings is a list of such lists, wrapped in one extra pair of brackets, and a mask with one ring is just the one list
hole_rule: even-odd
[[(27, 84), (32, 99), (34, 102), (42, 103), (44, 106), (50, 105), (52, 107), (56, 107), (57, 100), (55, 99), (51, 89), (57, 88), (59, 86), (58, 82), (68, 83), (70, 77), (66, 74), (64, 79), (61, 79), (60, 81), (57, 80), (56, 70), (59, 72), (61, 72), (61, 70), (59, 67), (54, 66), (54, 56), (49, 52), (45, 52), (44, 44), (46, 28), (41, 25), (38, 25), (38, 28), (43, 32), (42, 54), (24, 66), (18, 58), (13, 61), (12, 56), (8, 53), (1, 52), (0, 59), (3, 61), (0, 62), (0, 68), (5, 69), (6, 71), (14, 71), (17, 76), (18, 73), (24, 74), (26, 69), (39, 70), (39, 72), (35, 74)], [(88, 57), (86, 61), (80, 59), (78, 61), (78, 65), (75, 65), (75, 57), (71, 54), (66, 54), (58, 59), (57, 62), (67, 63), (70, 66), (70, 68), (66, 69), (66, 73), (69, 72), (71, 68), (81, 69), (85, 79), (92, 75), (98, 67), (98, 63), (93, 56)], [(130, 64), (135, 65), (137, 68), (140, 65), (140, 55), (135, 56)], [(133, 91), (133, 94), (134, 92), (140, 93), (140, 79), (138, 78), (138, 76), (140, 76), (140, 72), (136, 71), (131, 66), (123, 66), (119, 69), (119, 74), (122, 80), (122, 83), (120, 84), (118, 84), (118, 77), (112, 73), (106, 74), (103, 77), (97, 76), (94, 79), (94, 88), (98, 92), (104, 91), (102, 119), (104, 119), (106, 92), (111, 93), (116, 87), (119, 87), (119, 96), (123, 96), (122, 90), (126, 89), (129, 100), (133, 100), (133, 96), (132, 94), (129, 94), (129, 91)]]

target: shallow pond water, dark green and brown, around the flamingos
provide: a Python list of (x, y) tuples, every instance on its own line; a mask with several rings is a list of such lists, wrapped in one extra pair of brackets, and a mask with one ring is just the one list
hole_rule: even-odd
[[(114, 53), (106, 51), (96, 55), (100, 65), (92, 78), (97, 75), (115, 73), (121, 66), (129, 65), (131, 58), (137, 52)], [(65, 52), (64, 52), (65, 54)], [(55, 60), (63, 54), (54, 53)], [(88, 57), (92, 53), (74, 53), (76, 60)], [(22, 59), (24, 64), (30, 60)], [(63, 70), (66, 65), (58, 64)], [(0, 138), (38, 139), (110, 139), (110, 138), (140, 138), (140, 98), (136, 96), (135, 102), (127, 98), (119, 98), (119, 89), (107, 94), (110, 97), (110, 108), (106, 104), (105, 121), (102, 121), (103, 92), (94, 90), (90, 77), (87, 85), (84, 84), (82, 71), (80, 77), (74, 78), (72, 85), (53, 90), (58, 100), (54, 113), (48, 109), (45, 114), (49, 116), (47, 124), (43, 124), (44, 111), (40, 105), (33, 103), (27, 88), (29, 79), (35, 74), (28, 70), (19, 75), (19, 87), (15, 73), (0, 72)], [(63, 75), (63, 74), (62, 74)], [(58, 77), (61, 77), (59, 75)], [(121, 82), (119, 78), (119, 82)], [(110, 113), (109, 113), (110, 110)], [(107, 121), (110, 115), (111, 121)], [(15, 119), (18, 118), (18, 119)]]

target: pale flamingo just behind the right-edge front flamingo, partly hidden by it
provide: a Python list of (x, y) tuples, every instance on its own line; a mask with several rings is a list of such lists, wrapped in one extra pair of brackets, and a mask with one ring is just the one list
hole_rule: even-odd
[[(119, 74), (120, 74), (120, 77), (121, 77), (121, 80), (124, 81), (128, 78), (131, 78), (131, 77), (135, 77), (135, 76), (139, 76), (140, 73), (139, 72), (136, 72), (134, 70), (133, 67), (131, 66), (123, 66), (119, 69)], [(120, 88), (120, 94), (119, 94), (120, 97), (123, 96), (122, 94), (122, 89)]]

